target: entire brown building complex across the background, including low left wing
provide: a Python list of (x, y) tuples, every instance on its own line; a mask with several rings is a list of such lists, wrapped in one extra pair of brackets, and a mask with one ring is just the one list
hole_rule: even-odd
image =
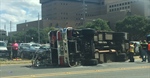
[[(150, 18), (150, 0), (40, 0), (42, 20), (40, 28), (78, 27), (102, 18), (115, 30), (118, 20), (128, 15)], [(17, 25), (17, 31), (37, 28), (38, 21)]]

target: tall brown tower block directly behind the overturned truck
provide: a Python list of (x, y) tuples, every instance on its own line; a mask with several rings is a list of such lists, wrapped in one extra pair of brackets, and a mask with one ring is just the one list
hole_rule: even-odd
[(104, 0), (40, 0), (40, 3), (42, 20), (50, 20), (51, 26), (81, 26), (90, 20), (86, 18), (106, 12), (101, 8)]

